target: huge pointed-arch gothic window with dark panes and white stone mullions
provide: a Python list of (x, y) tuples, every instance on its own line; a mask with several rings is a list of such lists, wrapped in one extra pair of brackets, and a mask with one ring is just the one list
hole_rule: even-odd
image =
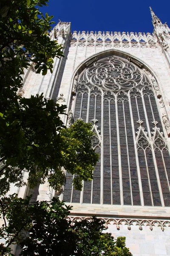
[(82, 192), (67, 174), (64, 201), (170, 206), (170, 156), (150, 78), (126, 59), (96, 61), (79, 75), (74, 120), (93, 123), (100, 154)]

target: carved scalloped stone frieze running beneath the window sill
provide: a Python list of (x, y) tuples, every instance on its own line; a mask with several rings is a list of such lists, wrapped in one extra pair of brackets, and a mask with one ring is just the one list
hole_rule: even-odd
[[(100, 218), (100, 217), (99, 217)], [(88, 220), (91, 221), (91, 217), (84, 216), (68, 216), (65, 219), (71, 221), (72, 224), (75, 221)], [(137, 218), (100, 218), (105, 221), (105, 228), (108, 228), (108, 225), (116, 225), (116, 229), (120, 230), (120, 225), (127, 226), (128, 230), (131, 230), (131, 226), (139, 226), (139, 230), (142, 230), (142, 227), (149, 227), (150, 230), (153, 230), (153, 227), (160, 227), (164, 231), (165, 227), (170, 227), (169, 220), (156, 220), (156, 219), (137, 219)]]

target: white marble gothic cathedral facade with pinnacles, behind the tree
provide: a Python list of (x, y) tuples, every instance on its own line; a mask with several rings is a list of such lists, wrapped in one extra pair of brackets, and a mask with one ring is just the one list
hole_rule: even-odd
[[(170, 256), (170, 28), (150, 12), (152, 35), (71, 33), (71, 23), (59, 21), (50, 36), (65, 58), (46, 76), (30, 66), (21, 94), (67, 105), (68, 127), (93, 124), (94, 180), (80, 192), (66, 174), (59, 195), (73, 205), (71, 221), (97, 215), (115, 238), (126, 236), (133, 256)], [(38, 194), (48, 200), (57, 192), (44, 184)]]

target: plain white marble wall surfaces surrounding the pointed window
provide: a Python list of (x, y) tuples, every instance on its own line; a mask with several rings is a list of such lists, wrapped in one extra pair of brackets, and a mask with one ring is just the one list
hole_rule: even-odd
[[(43, 77), (41, 74), (36, 74), (33, 68), (29, 71), (28, 78), (23, 87), (25, 91), (24, 96), (30, 97), (31, 94), (44, 93), (45, 97), (53, 97), (52, 92), (56, 91), (58, 96), (63, 94), (66, 100), (65, 103), (68, 105), (71, 95), (71, 79), (73, 80), (74, 71), (77, 70), (79, 64), (90, 56), (109, 49), (118, 49), (119, 51), (131, 54), (146, 63), (154, 71), (170, 119), (170, 68), (161, 46), (157, 43), (154, 46), (148, 44), (147, 47), (143, 47), (139, 43), (137, 47), (133, 47), (131, 43), (128, 43), (128, 47), (125, 47), (123, 43), (119, 43), (119, 47), (114, 48), (113, 44), (111, 44), (111, 47), (106, 47), (104, 44), (102, 44), (102, 47), (97, 47), (94, 42), (94, 46), (91, 47), (91, 45), (87, 46), (87, 44), (79, 45), (78, 41), (71, 41), (68, 53), (65, 54), (66, 61), (60, 61), (57, 58), (54, 60), (54, 73), (52, 75), (48, 72)], [(61, 80), (61, 84), (57, 84), (57, 79)], [(41, 185), (38, 200), (48, 200), (49, 193), (48, 185)], [(24, 189), (20, 190), (20, 195), (24, 195)], [(74, 215), (76, 215), (76, 212), (81, 212), (84, 215), (93, 213), (100, 216), (114, 213), (114, 215), (118, 214), (128, 218), (131, 215), (140, 215), (146, 216), (146, 218), (152, 216), (157, 219), (163, 217), (169, 219), (170, 216), (170, 209), (168, 207), (105, 207), (100, 205), (74, 204), (73, 212)], [(133, 256), (170, 256), (170, 227), (165, 227), (164, 231), (160, 227), (153, 227), (151, 231), (149, 227), (145, 226), (142, 230), (139, 230), (139, 227), (134, 225), (131, 227), (131, 230), (128, 230), (126, 225), (121, 225), (120, 230), (117, 230), (115, 225), (110, 224), (108, 231), (115, 238), (117, 236), (126, 236), (127, 247), (130, 248)]]

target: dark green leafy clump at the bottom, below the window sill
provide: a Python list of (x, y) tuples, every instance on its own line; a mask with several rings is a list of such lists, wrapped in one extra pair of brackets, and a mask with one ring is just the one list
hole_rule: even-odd
[(1, 244), (2, 256), (11, 243), (20, 244), (21, 256), (132, 256), (125, 247), (125, 237), (114, 241), (111, 234), (102, 233), (104, 221), (95, 216), (91, 221), (71, 224), (66, 219), (71, 207), (57, 198), (32, 205), (29, 200), (17, 195), (3, 198), (1, 213), (9, 222), (0, 229), (1, 236), (7, 239), (6, 245)]

